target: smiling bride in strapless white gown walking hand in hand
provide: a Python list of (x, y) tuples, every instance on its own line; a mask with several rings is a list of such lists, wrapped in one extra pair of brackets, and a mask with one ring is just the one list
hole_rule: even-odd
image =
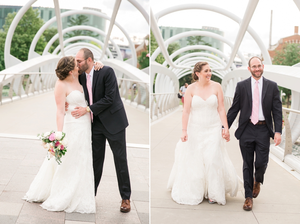
[(225, 194), (234, 197), (243, 189), (225, 148), (223, 137), (228, 142), (230, 134), (223, 91), (219, 83), (210, 80), (211, 71), (207, 62), (198, 62), (192, 74), (194, 82), (184, 96), (182, 135), (167, 185), (179, 204), (197, 205), (205, 197), (209, 203), (225, 205)]

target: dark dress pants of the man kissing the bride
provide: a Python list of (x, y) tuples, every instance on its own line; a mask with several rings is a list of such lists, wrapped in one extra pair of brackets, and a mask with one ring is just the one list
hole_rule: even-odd
[(102, 176), (105, 145), (107, 140), (114, 155), (114, 165), (116, 168), (120, 195), (122, 199), (130, 199), (131, 189), (127, 165), (125, 130), (126, 129), (112, 135), (103, 126), (102, 122), (97, 116), (94, 116), (93, 118), (92, 151), (95, 177), (95, 196), (97, 194), (97, 188)]

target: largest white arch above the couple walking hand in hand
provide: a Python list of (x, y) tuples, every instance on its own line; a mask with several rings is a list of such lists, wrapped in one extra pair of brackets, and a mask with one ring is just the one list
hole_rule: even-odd
[[(294, 0), (294, 2), (295, 1), (297, 1), (297, 0)], [(295, 2), (295, 4), (296, 4), (296, 2)], [(300, 3), (299, 3), (299, 5), (300, 5)], [(240, 17), (236, 16), (235, 14), (233, 14), (233, 13), (231, 13), (231, 12), (225, 10), (225, 9), (222, 9), (222, 8), (219, 8), (219, 7), (216, 7), (216, 6), (206, 5), (206, 4), (199, 4), (199, 3), (183, 4), (183, 5), (172, 6), (172, 7), (169, 7), (167, 9), (163, 9), (160, 12), (155, 14), (155, 18), (158, 21), (159, 18), (161, 18), (165, 15), (168, 15), (170, 13), (174, 13), (174, 12), (177, 12), (177, 11), (188, 10), (188, 9), (202, 9), (202, 10), (206, 10), (206, 11), (212, 11), (212, 12), (224, 15), (224, 16), (232, 19), (233, 21), (237, 22), (238, 24), (241, 24), (241, 22), (242, 22), (242, 19)], [(265, 65), (272, 65), (272, 60), (271, 60), (271, 57), (269, 55), (269, 52), (266, 49), (266, 47), (264, 46), (264, 43), (261, 40), (261, 38), (259, 37), (259, 35), (250, 26), (248, 26), (247, 31), (253, 37), (253, 39), (257, 43), (258, 47), (261, 49), (261, 54), (264, 58), (264, 64)]]

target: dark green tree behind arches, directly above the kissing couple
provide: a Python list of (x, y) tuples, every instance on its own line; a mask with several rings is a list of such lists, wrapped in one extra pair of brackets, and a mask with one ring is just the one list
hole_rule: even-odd
[[(79, 25), (83, 25), (84, 23), (88, 22), (88, 17), (86, 15), (77, 15), (77, 17), (71, 17), (70, 18), (70, 24), (68, 25), (70, 26), (79, 26)], [(70, 38), (73, 36), (91, 36), (91, 37), (98, 37), (99, 34), (93, 34), (92, 31), (88, 31), (88, 30), (74, 30), (72, 32), (66, 33), (65, 34), (65, 38)], [(75, 40), (73, 42), (70, 43), (77, 43), (79, 42), (79, 40)]]

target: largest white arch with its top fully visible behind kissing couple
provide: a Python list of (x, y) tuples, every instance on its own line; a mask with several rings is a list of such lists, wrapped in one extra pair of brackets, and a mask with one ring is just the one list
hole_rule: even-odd
[[(34, 0), (32, 0), (34, 1)], [(24, 7), (24, 6), (23, 6)], [(30, 6), (29, 6), (30, 7)], [(27, 11), (27, 10), (26, 10)], [(61, 18), (63, 17), (67, 17), (67, 16), (71, 16), (71, 15), (75, 15), (75, 14), (90, 14), (90, 15), (94, 15), (94, 16), (98, 16), (101, 17), (103, 19), (107, 19), (107, 20), (111, 20), (111, 17), (108, 17), (106, 14), (98, 12), (98, 11), (94, 11), (94, 10), (90, 10), (90, 9), (82, 9), (82, 10), (69, 10), (66, 12), (61, 13)], [(19, 22), (19, 21), (18, 21)], [(34, 36), (30, 48), (29, 48), (29, 52), (28, 52), (28, 59), (34, 58), (34, 49), (36, 48), (36, 44), (40, 38), (40, 36), (43, 34), (43, 32), (52, 24), (56, 22), (56, 17), (52, 17), (50, 20), (48, 20), (40, 29), (39, 31), (36, 33), (36, 35)], [(133, 58), (133, 66), (137, 65), (137, 52), (135, 50), (134, 44), (132, 43), (129, 35), (127, 34), (127, 32), (124, 30), (124, 28), (122, 28), (122, 26), (120, 24), (118, 24), (116, 21), (114, 22), (114, 24), (123, 32), (123, 34), (125, 35), (126, 39), (129, 42), (129, 46), (130, 46), (130, 50), (132, 51), (132, 58)]]

